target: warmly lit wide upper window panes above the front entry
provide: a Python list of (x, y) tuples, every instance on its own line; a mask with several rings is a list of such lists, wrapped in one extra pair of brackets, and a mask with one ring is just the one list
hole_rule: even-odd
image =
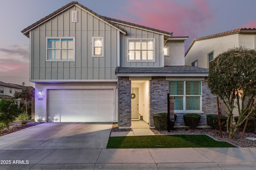
[(128, 61), (154, 62), (154, 39), (128, 39)]

